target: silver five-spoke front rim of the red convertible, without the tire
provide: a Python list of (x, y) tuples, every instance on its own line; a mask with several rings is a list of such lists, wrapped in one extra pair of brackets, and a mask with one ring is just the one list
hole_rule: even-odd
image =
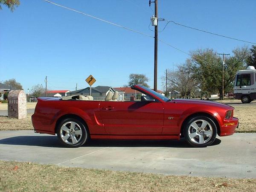
[(189, 125), (188, 135), (192, 143), (204, 144), (212, 137), (211, 124), (204, 119), (197, 119)]

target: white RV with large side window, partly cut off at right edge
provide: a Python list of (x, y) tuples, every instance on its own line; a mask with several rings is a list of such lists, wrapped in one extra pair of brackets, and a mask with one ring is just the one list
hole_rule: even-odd
[(242, 103), (250, 103), (256, 99), (256, 70), (253, 66), (236, 72), (234, 97), (241, 99)]

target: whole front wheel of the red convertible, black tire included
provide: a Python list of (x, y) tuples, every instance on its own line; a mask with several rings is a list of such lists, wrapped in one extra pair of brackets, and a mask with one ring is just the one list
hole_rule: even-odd
[(190, 118), (183, 131), (186, 142), (192, 147), (207, 147), (215, 141), (217, 135), (215, 123), (207, 116)]

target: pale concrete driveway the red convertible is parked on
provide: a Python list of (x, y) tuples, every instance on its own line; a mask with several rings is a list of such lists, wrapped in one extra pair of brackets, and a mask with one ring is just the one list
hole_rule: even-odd
[(92, 140), (64, 148), (56, 136), (0, 131), (0, 160), (200, 177), (256, 178), (256, 134), (218, 137), (191, 148), (184, 140)]

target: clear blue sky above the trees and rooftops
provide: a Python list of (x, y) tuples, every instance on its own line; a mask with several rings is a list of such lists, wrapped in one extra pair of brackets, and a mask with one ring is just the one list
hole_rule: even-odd
[[(148, 0), (52, 0), (55, 3), (154, 36)], [(256, 1), (158, 0), (160, 18), (256, 42)], [(154, 86), (154, 39), (43, 0), (20, 0), (10, 12), (0, 10), (0, 81), (15, 78), (25, 91), (43, 84), (51, 90), (87, 87), (91, 74), (98, 85), (120, 87), (130, 73), (143, 73)], [(154, 4), (151, 7), (154, 9)], [(159, 30), (166, 22), (159, 22)], [(151, 27), (153, 30), (153, 27)], [(252, 44), (210, 35), (169, 23), (159, 39), (185, 51), (212, 48), (232, 53)], [(189, 56), (158, 43), (158, 89), (165, 69)]]

